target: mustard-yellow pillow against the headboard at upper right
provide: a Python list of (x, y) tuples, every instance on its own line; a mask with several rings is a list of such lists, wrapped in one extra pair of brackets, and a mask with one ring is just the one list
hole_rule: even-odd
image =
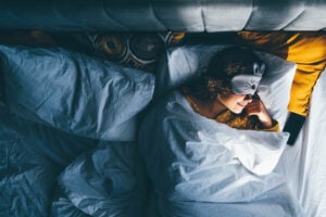
[(326, 34), (240, 31), (238, 36), (240, 44), (297, 63), (288, 110), (306, 116), (313, 87), (326, 65)]

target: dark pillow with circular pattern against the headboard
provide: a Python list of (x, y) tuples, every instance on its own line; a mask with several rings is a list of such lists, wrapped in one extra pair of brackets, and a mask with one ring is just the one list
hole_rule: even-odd
[(166, 48), (183, 42), (185, 33), (83, 33), (75, 38), (106, 60), (126, 66), (155, 72)]

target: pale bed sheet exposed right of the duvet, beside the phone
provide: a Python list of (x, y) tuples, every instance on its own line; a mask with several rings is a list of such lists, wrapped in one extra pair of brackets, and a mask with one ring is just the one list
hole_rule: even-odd
[(310, 115), (293, 146), (287, 146), (276, 168), (300, 201), (308, 217), (326, 216), (326, 69), (318, 78)]

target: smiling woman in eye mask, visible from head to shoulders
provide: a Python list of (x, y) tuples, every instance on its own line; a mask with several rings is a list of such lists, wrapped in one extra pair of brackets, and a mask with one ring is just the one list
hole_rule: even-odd
[(199, 114), (238, 129), (279, 131), (256, 90), (265, 64), (249, 49), (229, 47), (216, 53), (206, 73), (181, 88)]

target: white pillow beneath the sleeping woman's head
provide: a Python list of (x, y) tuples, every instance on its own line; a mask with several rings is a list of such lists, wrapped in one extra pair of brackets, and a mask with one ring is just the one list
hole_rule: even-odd
[[(228, 46), (185, 46), (168, 49), (159, 65), (154, 95), (161, 97), (204, 72), (214, 53)], [(297, 66), (269, 53), (256, 53), (266, 62), (267, 68), (261, 80), (259, 94), (269, 114), (283, 128)]]

